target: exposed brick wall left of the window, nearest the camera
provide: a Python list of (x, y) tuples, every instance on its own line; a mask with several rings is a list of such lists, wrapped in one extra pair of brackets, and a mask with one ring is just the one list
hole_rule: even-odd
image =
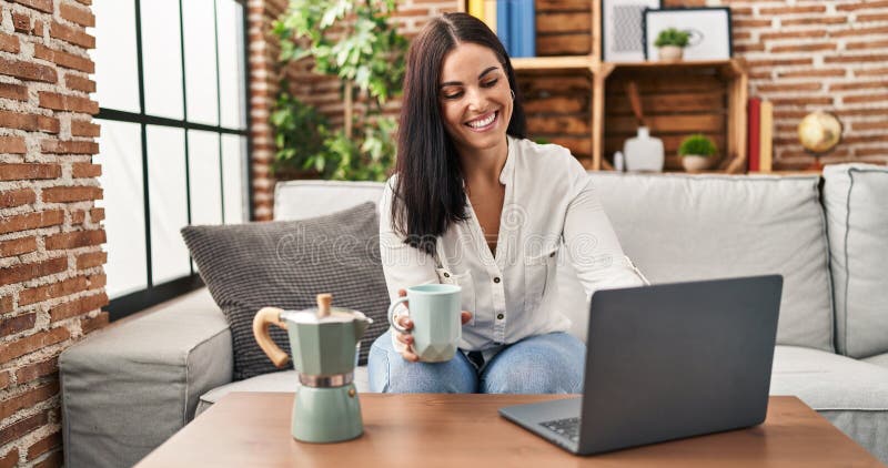
[(0, 1), (0, 467), (62, 464), (58, 356), (108, 323), (89, 4)]

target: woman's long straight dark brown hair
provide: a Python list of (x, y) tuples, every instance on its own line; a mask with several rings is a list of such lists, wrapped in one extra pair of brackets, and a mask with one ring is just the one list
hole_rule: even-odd
[(428, 254), (434, 254), (437, 236), (468, 217), (460, 159), (444, 130), (438, 101), (444, 57), (464, 42), (483, 45), (496, 54), (515, 93), (506, 133), (522, 139), (526, 134), (515, 70), (496, 34), (466, 13), (445, 13), (426, 24), (407, 51), (392, 220), (406, 244)]

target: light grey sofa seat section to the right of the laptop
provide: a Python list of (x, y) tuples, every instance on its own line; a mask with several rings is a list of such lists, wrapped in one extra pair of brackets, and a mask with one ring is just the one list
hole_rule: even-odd
[(888, 462), (888, 369), (837, 354), (777, 346), (771, 395), (795, 395)]

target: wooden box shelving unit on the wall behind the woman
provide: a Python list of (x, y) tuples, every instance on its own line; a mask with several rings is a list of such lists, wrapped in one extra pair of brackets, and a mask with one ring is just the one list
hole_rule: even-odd
[[(558, 8), (553, 7), (557, 3), (537, 1), (537, 9), (547, 14), (549, 11), (539, 9)], [(458, 0), (461, 11), (465, 7), (465, 1)], [(743, 59), (603, 62), (598, 0), (589, 1), (589, 18), (588, 54), (512, 59), (519, 87), (528, 98), (531, 136), (569, 147), (587, 169), (613, 169), (605, 154), (613, 154), (635, 133), (635, 120), (623, 91), (625, 82), (632, 80), (638, 83), (650, 134), (664, 140), (667, 171), (680, 170), (675, 156), (678, 142), (698, 132), (713, 138), (719, 149), (715, 172), (746, 171), (748, 75)], [(588, 88), (579, 87), (577, 79), (587, 80)], [(563, 131), (558, 133), (557, 129)]]

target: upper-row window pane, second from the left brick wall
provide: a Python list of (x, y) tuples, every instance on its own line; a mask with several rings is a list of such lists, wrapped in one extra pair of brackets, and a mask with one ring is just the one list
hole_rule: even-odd
[(182, 119), (184, 102), (179, 0), (142, 1), (141, 10), (145, 113)]

